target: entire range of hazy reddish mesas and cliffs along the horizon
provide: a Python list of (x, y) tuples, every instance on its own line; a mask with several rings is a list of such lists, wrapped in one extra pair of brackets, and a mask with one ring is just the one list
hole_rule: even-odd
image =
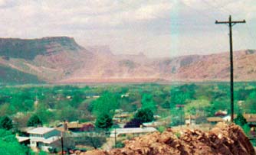
[[(236, 51), (234, 63), (235, 80), (256, 79), (256, 50)], [(0, 75), (0, 82), (7, 83), (10, 77), (57, 83), (229, 79), (228, 53), (149, 59), (143, 53), (115, 55), (107, 46), (81, 47), (72, 37), (0, 38), (0, 65), (0, 73), (7, 74)], [(18, 79), (21, 73), (28, 78)]]

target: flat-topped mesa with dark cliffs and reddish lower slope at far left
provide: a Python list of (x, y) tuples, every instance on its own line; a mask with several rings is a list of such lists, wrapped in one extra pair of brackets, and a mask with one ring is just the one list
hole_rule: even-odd
[[(40, 39), (0, 38), (0, 65), (18, 72), (54, 82), (80, 68), (83, 59), (92, 55), (72, 37)], [(10, 77), (15, 77), (8, 72)], [(3, 81), (6, 81), (3, 77)], [(12, 80), (14, 81), (14, 80)]]

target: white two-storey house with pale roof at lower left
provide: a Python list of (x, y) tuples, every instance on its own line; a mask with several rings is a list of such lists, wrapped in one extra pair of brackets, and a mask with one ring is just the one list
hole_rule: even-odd
[(38, 147), (44, 151), (48, 151), (57, 140), (61, 140), (61, 132), (54, 128), (34, 128), (28, 134), (30, 147)]

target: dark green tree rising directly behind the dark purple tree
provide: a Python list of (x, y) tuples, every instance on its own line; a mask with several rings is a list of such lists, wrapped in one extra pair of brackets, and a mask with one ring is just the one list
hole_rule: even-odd
[(142, 121), (143, 123), (153, 121), (153, 111), (151, 111), (149, 108), (139, 109), (139, 111), (136, 112), (134, 118), (136, 120)]

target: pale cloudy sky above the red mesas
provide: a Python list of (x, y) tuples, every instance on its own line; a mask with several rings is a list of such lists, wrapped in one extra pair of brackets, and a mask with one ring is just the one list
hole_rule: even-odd
[(0, 37), (74, 37), (82, 46), (113, 53), (174, 57), (256, 49), (255, 0), (0, 0)]

